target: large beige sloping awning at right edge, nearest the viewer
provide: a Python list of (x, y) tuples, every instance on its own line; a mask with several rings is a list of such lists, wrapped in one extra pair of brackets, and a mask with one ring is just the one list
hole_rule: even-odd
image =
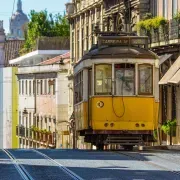
[(174, 64), (169, 68), (166, 74), (159, 81), (160, 85), (169, 84), (169, 83), (179, 83), (180, 81), (180, 56), (176, 59)]

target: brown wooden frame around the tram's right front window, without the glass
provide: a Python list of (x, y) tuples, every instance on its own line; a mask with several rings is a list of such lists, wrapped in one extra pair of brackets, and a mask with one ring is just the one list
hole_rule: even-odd
[[(140, 71), (139, 71), (139, 67), (140, 66), (149, 66), (151, 67), (151, 72), (152, 72), (152, 80), (151, 80), (151, 93), (141, 93), (140, 92)], [(138, 75), (138, 94), (139, 96), (153, 96), (154, 95), (154, 66), (152, 64), (138, 64), (137, 66), (137, 75)]]

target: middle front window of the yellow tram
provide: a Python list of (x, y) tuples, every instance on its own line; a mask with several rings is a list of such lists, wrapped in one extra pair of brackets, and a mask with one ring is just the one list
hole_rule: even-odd
[(115, 93), (116, 95), (135, 94), (135, 65), (115, 64)]

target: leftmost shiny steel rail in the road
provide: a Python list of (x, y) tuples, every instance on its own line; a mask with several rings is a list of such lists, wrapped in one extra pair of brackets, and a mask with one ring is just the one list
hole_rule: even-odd
[(18, 162), (18, 160), (11, 152), (9, 152), (7, 149), (3, 149), (3, 151), (12, 160), (13, 165), (24, 180), (34, 180), (33, 177), (26, 171), (23, 165)]

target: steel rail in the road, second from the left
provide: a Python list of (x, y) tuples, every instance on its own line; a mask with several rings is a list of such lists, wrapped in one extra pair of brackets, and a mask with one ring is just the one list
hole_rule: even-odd
[(43, 156), (44, 158), (46, 158), (47, 160), (49, 160), (50, 162), (53, 162), (54, 164), (58, 165), (58, 167), (65, 172), (67, 175), (69, 175), (71, 178), (73, 178), (74, 180), (84, 180), (83, 178), (81, 178), (80, 176), (78, 176), (77, 174), (75, 174), (74, 172), (72, 172), (71, 170), (69, 170), (68, 168), (66, 168), (65, 166), (63, 166), (62, 164), (60, 164), (59, 162), (55, 161), (54, 159), (50, 158), (49, 156), (47, 156), (46, 154), (39, 152), (38, 150), (32, 149), (32, 151), (36, 152), (37, 154)]

